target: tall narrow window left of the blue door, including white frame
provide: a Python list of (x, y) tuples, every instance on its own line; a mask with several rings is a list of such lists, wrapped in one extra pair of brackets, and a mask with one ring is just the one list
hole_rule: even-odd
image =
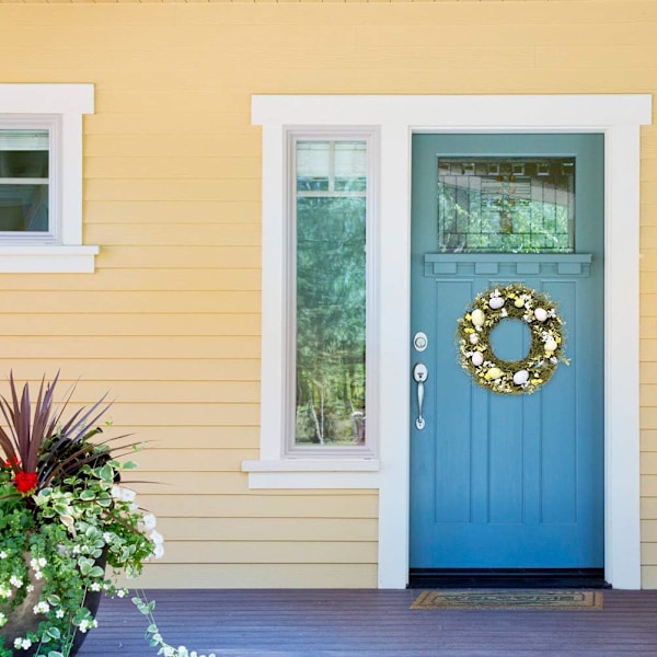
[(242, 468), (371, 485), (379, 132), (278, 126), (263, 139), (261, 458)]

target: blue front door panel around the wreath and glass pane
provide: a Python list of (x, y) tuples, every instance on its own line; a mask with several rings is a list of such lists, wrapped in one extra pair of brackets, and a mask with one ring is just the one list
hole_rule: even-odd
[[(603, 563), (603, 152), (600, 135), (416, 135), (413, 141), (412, 366), (428, 368), (415, 426), (411, 567), (589, 568)], [(440, 252), (440, 157), (573, 157), (573, 253)], [(503, 238), (506, 239), (506, 238)], [(565, 355), (533, 394), (476, 385), (458, 361), (457, 321), (487, 288), (522, 283), (558, 302)], [(496, 353), (529, 348), (510, 326)]]

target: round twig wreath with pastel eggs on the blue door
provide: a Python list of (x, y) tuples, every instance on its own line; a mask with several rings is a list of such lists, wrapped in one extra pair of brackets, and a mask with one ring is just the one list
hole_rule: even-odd
[[(529, 354), (502, 360), (491, 347), (491, 332), (504, 319), (521, 320), (531, 331)], [(459, 360), (474, 381), (500, 394), (530, 394), (548, 383), (563, 356), (563, 320), (545, 295), (512, 283), (480, 292), (459, 319)]]

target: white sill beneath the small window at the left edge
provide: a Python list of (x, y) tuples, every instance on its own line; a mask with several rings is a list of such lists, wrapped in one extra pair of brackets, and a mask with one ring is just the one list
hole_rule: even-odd
[(93, 274), (99, 246), (0, 245), (0, 274)]

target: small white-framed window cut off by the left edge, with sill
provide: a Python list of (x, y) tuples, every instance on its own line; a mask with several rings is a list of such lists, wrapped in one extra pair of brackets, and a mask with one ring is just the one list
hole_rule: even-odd
[(91, 84), (0, 84), (0, 273), (94, 270), (82, 244)]

